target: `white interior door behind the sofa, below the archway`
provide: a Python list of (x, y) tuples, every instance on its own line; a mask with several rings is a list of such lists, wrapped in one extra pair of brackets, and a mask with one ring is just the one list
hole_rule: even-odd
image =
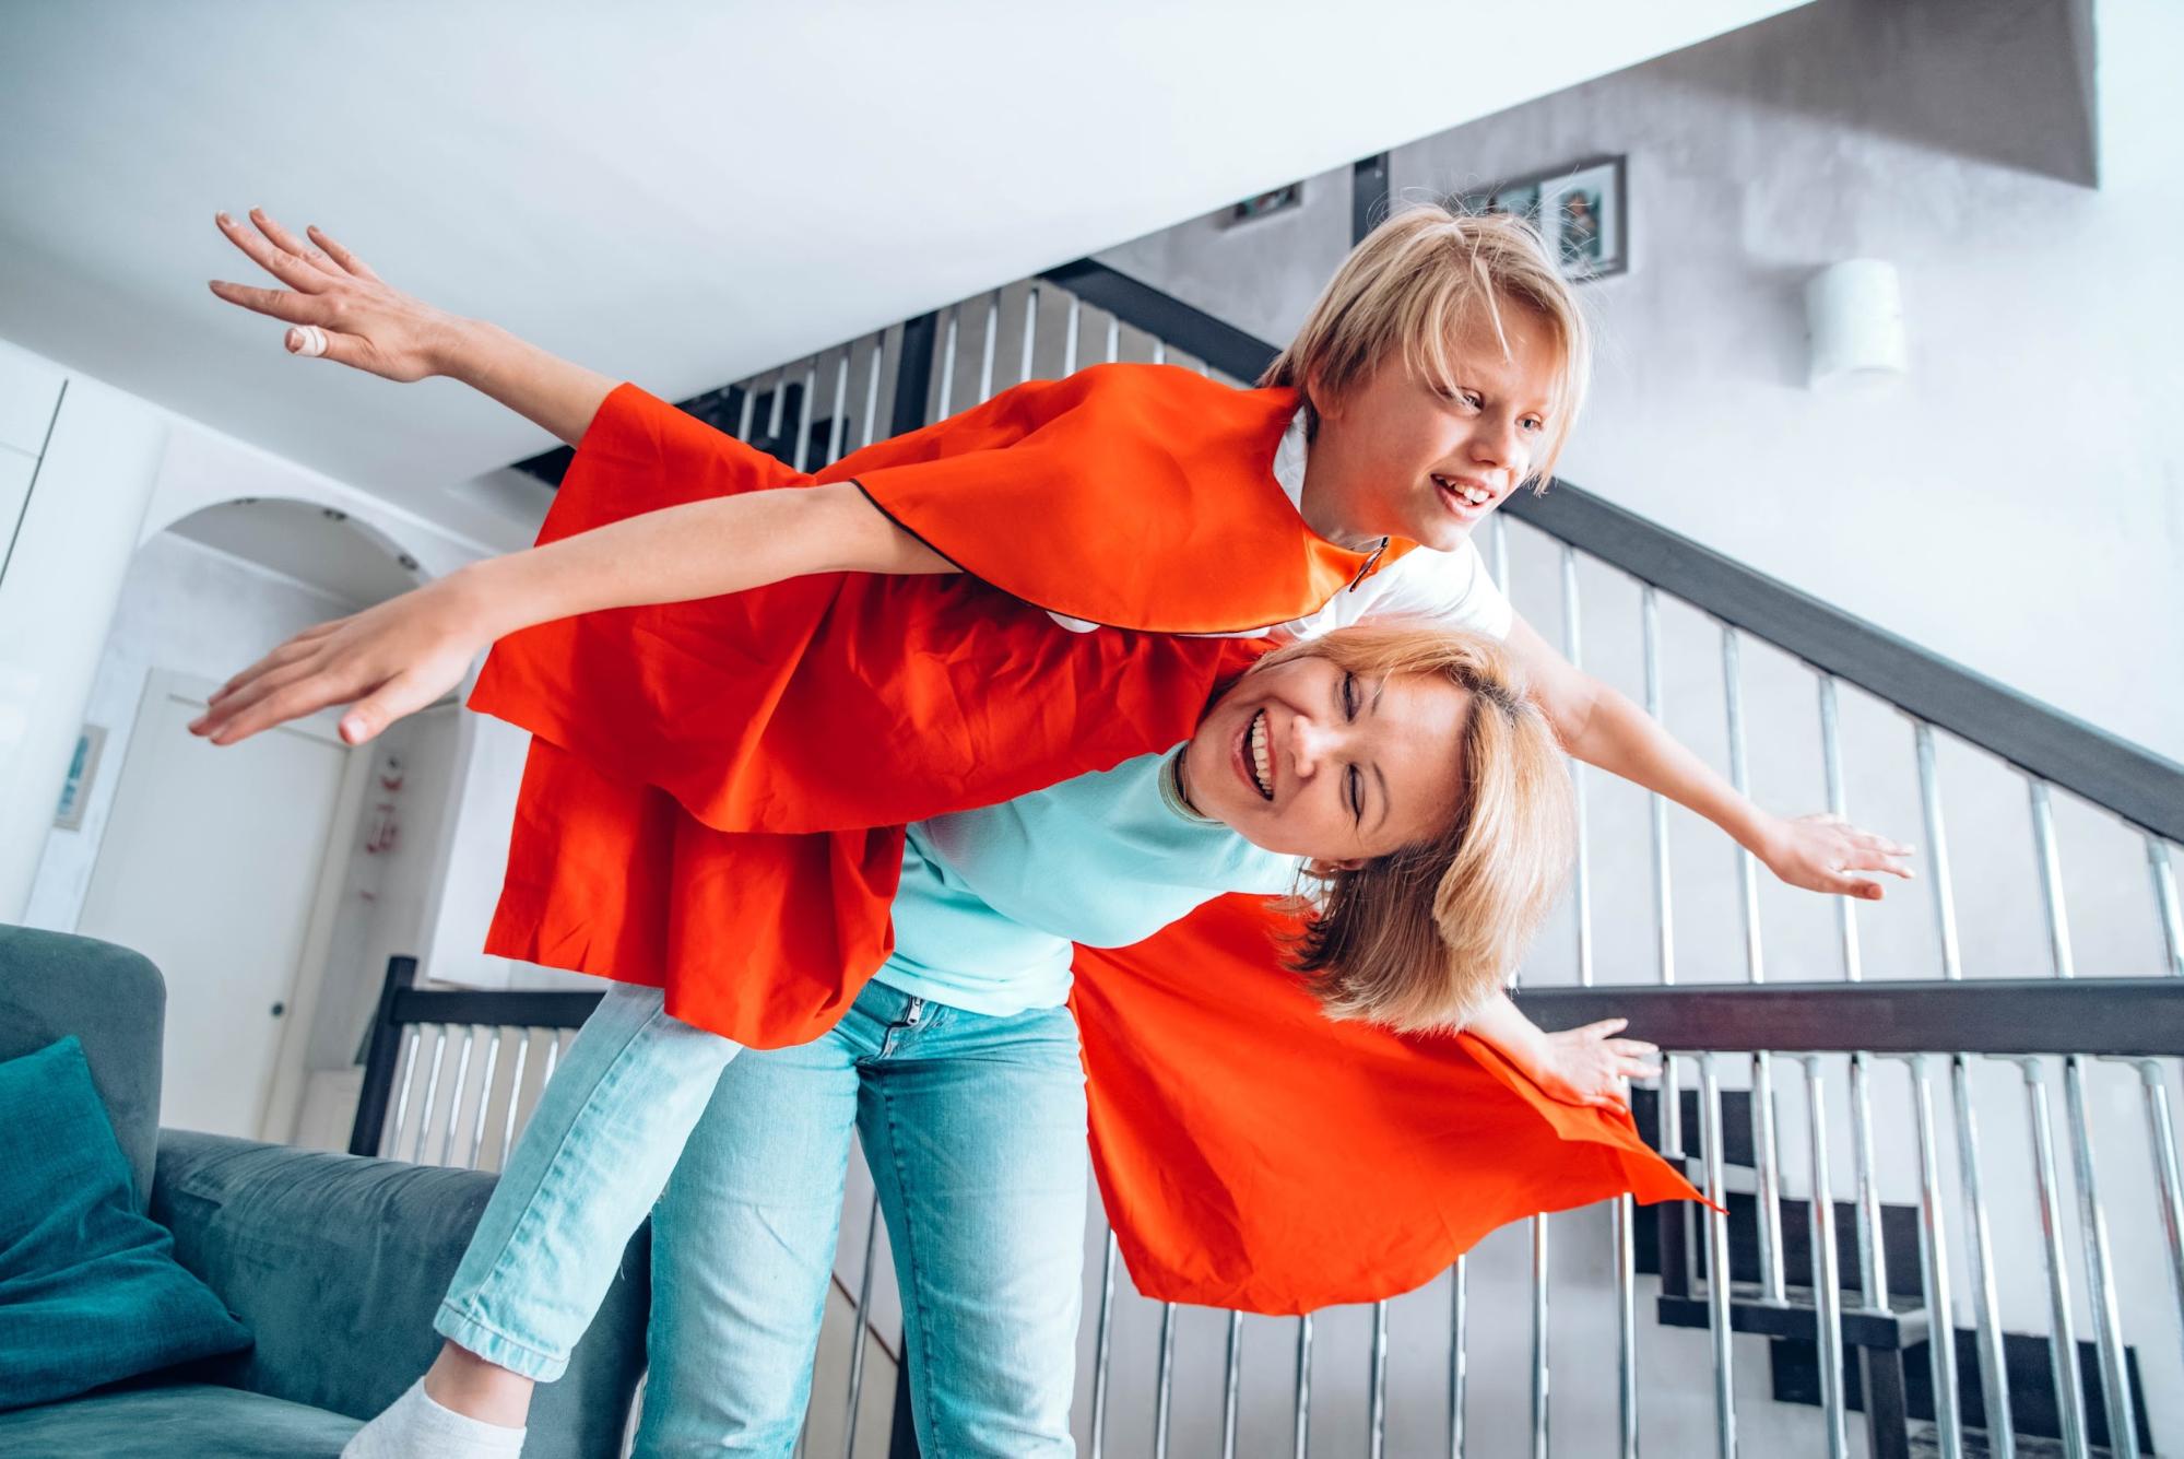
[(218, 749), (186, 729), (212, 688), (149, 675), (76, 930), (166, 974), (159, 1123), (258, 1136), (325, 957), (352, 751), (332, 714)]

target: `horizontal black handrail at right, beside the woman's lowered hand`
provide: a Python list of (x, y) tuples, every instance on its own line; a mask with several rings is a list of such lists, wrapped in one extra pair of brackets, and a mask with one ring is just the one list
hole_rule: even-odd
[(1627, 1018), (1671, 1053), (2184, 1057), (2184, 978), (1527, 987), (1544, 1029)]

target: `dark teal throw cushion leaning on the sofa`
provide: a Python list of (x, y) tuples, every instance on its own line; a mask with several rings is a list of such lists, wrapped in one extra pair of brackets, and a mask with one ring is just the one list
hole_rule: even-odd
[(249, 1348), (138, 1214), (74, 1035), (0, 1064), (0, 1409)]

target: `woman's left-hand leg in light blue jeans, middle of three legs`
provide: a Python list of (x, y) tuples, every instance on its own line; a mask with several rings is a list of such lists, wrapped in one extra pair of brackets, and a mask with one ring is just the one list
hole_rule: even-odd
[(653, 1210), (651, 1374), (636, 1452), (795, 1450), (834, 1269), (871, 985), (826, 1037), (740, 1055)]

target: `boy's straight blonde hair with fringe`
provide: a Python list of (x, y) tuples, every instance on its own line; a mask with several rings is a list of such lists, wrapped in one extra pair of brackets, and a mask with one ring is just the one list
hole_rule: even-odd
[(1313, 391), (1341, 400), (1393, 358), (1420, 380), (1455, 393), (1461, 382), (1450, 345), (1483, 315), (1507, 349), (1503, 308), (1509, 304), (1533, 312), (1562, 356), (1542, 450), (1531, 463), (1533, 489), (1544, 491), (1586, 402), (1592, 339), (1540, 229), (1511, 214), (1474, 214), (1446, 203), (1398, 210), (1350, 249), (1297, 339), (1258, 382), (1304, 391), (1308, 432), (1319, 430)]

